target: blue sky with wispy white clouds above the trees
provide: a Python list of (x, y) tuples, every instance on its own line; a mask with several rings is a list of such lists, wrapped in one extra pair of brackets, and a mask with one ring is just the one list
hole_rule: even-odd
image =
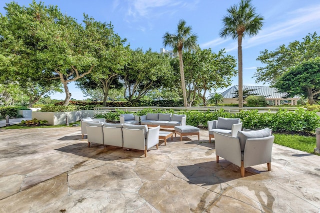
[[(15, 0), (20, 5), (28, 5), (31, 0)], [(38, 2), (38, 0), (36, 0)], [(5, 14), (3, 7), (7, 0), (0, 0), (0, 13)], [(237, 59), (237, 42), (231, 38), (219, 37), (222, 17), (226, 9), (239, 0), (43, 0), (57, 5), (61, 12), (81, 22), (83, 13), (101, 22), (111, 22), (114, 31), (132, 49), (138, 47), (159, 52), (162, 46), (162, 35), (168, 31), (174, 33), (179, 19), (198, 36), (202, 49), (211, 48), (218, 52), (225, 48), (227, 54)], [(243, 85), (256, 84), (252, 78), (256, 67), (263, 66), (256, 58), (264, 49), (275, 50), (279, 45), (287, 45), (294, 40), (301, 41), (308, 33), (320, 28), (319, 0), (252, 0), (256, 12), (264, 17), (262, 30), (254, 37), (244, 37), (243, 51)], [(166, 47), (170, 49), (170, 47)], [(232, 85), (237, 85), (237, 77), (232, 78)], [(265, 84), (268, 85), (268, 84)], [(81, 91), (69, 85), (71, 98), (85, 99)], [(220, 89), (217, 92), (222, 92)], [(213, 91), (212, 91), (213, 92)], [(64, 93), (51, 96), (64, 99)]]

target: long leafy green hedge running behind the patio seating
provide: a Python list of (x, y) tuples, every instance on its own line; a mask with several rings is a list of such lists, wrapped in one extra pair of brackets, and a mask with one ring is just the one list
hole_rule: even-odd
[[(135, 115), (145, 115), (148, 112), (173, 113), (173, 110), (143, 109), (135, 112)], [(119, 115), (125, 113), (122, 110), (97, 115), (96, 118), (105, 118), (107, 121), (118, 121)], [(130, 113), (130, 112), (127, 112)], [(186, 114), (186, 124), (192, 126), (202, 126), (207, 128), (207, 121), (216, 120), (217, 117), (240, 118), (242, 128), (262, 129), (270, 128), (273, 132), (303, 133), (314, 132), (320, 126), (320, 117), (314, 111), (306, 111), (299, 108), (295, 111), (279, 110), (276, 113), (258, 113), (257, 110), (240, 111), (239, 113), (228, 113), (220, 109), (216, 112), (180, 111), (176, 114)]]

